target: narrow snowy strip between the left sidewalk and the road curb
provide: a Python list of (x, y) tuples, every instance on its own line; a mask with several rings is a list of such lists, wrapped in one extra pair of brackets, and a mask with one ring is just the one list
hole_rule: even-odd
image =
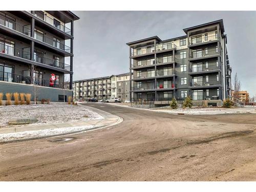
[(17, 133), (0, 134), (0, 142), (14, 139), (26, 139), (31, 137), (45, 137), (58, 134), (66, 134), (71, 132), (86, 131), (90, 128), (96, 127), (95, 125), (87, 126), (73, 126), (73, 127), (62, 127), (55, 129), (37, 130), (37, 131), (25, 131)]

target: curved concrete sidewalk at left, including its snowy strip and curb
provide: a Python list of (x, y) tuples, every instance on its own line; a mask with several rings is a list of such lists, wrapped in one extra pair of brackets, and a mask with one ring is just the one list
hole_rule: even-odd
[[(82, 106), (82, 105), (81, 105)], [(24, 126), (13, 126), (0, 129), (0, 143), (16, 142), (30, 139), (39, 139), (45, 137), (61, 136), (83, 131), (99, 129), (105, 126), (112, 126), (122, 122), (118, 116), (112, 115), (89, 106), (83, 106), (102, 116), (101, 119), (83, 120), (78, 122), (52, 123), (52, 124), (34, 124)]]

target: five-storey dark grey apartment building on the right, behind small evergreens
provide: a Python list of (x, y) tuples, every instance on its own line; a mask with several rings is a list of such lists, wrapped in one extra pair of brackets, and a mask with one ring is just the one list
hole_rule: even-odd
[(154, 36), (127, 43), (134, 83), (131, 100), (163, 101), (190, 95), (195, 102), (211, 100), (212, 104), (231, 96), (223, 20), (183, 31), (184, 36), (167, 40)]

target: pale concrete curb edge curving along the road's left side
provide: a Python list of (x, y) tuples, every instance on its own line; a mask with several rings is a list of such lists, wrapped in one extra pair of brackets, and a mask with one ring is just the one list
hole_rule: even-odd
[[(50, 137), (57, 137), (57, 136), (63, 136), (63, 135), (71, 135), (71, 134), (76, 134), (76, 133), (81, 133), (81, 132), (88, 132), (88, 131), (94, 131), (94, 130), (98, 130), (98, 129), (104, 129), (104, 128), (109, 127), (109, 126), (114, 126), (114, 125), (116, 125), (118, 123), (121, 123), (123, 121), (123, 119), (121, 117), (118, 117), (118, 116), (116, 116), (116, 117), (117, 117), (117, 121), (114, 122), (114, 123), (95, 126), (95, 127), (89, 128), (89, 129), (83, 129), (83, 130), (79, 130), (79, 131), (60, 133), (60, 134), (54, 134), (54, 135), (48, 135), (48, 136), (30, 137), (30, 138), (24, 138), (24, 139), (13, 139), (13, 140), (0, 141), (0, 144), (12, 143), (12, 142), (22, 142), (22, 141), (29, 141), (29, 140), (42, 139), (42, 138), (50, 138)], [(104, 118), (104, 119), (108, 119), (108, 118)], [(57, 128), (57, 129), (61, 129), (61, 128)]]

